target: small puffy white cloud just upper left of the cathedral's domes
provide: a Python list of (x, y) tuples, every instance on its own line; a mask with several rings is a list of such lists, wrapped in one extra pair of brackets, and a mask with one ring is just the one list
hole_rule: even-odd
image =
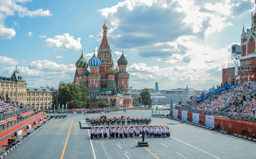
[(44, 47), (54, 48), (54, 49), (82, 49), (80, 43), (81, 38), (74, 39), (73, 36), (70, 36), (68, 33), (63, 35), (55, 35), (53, 38), (48, 38), (45, 40)]

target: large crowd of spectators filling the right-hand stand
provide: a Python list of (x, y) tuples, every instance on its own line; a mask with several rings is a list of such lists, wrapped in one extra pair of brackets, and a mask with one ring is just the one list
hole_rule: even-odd
[(191, 107), (216, 110), (234, 105), (230, 110), (230, 115), (245, 114), (256, 115), (256, 82), (245, 82), (244, 84), (238, 83), (237, 85), (227, 89), (221, 87), (218, 91), (205, 96), (205, 99), (196, 99), (197, 104)]

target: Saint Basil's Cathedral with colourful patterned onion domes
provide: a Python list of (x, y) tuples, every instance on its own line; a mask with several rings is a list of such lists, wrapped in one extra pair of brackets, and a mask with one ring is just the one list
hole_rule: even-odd
[[(83, 51), (76, 61), (76, 73), (74, 82), (77, 85), (84, 84), (88, 87), (87, 99), (90, 102), (90, 94), (97, 96), (99, 100), (105, 100), (111, 106), (132, 106), (131, 93), (129, 92), (129, 74), (126, 71), (127, 59), (123, 55), (117, 61), (114, 69), (111, 49), (107, 39), (108, 26), (103, 28), (103, 37), (96, 57), (95, 51), (92, 58), (87, 60)], [(87, 69), (90, 67), (90, 71)]]

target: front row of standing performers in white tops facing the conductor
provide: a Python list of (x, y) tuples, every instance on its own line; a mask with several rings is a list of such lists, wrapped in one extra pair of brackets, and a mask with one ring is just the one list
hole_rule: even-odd
[(114, 138), (118, 138), (118, 136), (120, 136), (120, 138), (123, 138), (123, 135), (127, 138), (129, 137), (139, 137), (140, 134), (142, 134), (142, 131), (145, 131), (145, 134), (147, 135), (147, 137), (170, 137), (170, 128), (168, 126), (146, 126), (144, 125), (141, 126), (139, 125), (138, 127), (136, 127), (135, 125), (133, 127), (131, 127), (130, 125), (125, 126), (123, 125), (123, 127), (121, 127), (121, 125), (119, 126), (119, 128), (117, 126), (111, 126), (109, 125), (108, 128), (106, 128), (105, 126), (101, 129), (99, 126), (98, 128), (95, 128), (93, 126), (93, 128), (91, 128), (90, 134), (91, 134), (91, 139), (93, 139), (93, 137), (95, 137), (96, 139), (102, 138), (102, 134), (103, 137), (106, 139), (107, 138), (107, 134), (109, 133), (109, 136)]

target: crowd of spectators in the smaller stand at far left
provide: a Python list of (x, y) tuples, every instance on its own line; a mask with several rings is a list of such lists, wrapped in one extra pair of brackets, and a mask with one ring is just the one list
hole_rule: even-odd
[(9, 113), (13, 110), (26, 107), (23, 103), (12, 101), (10, 98), (0, 96), (0, 113)]

